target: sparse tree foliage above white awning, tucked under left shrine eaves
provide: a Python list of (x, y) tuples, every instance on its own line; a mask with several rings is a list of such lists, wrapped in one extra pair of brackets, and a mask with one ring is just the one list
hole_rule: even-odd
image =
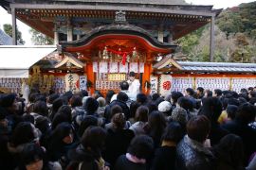
[(47, 37), (45, 34), (42, 34), (35, 29), (30, 29), (29, 33), (32, 34), (31, 41), (35, 45), (44, 45), (44, 44), (53, 44), (53, 39)]

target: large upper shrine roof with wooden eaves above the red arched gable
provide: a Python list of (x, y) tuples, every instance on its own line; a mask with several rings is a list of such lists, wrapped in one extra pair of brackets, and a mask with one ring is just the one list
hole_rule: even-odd
[(66, 19), (72, 18), (75, 26), (87, 24), (101, 26), (111, 24), (117, 10), (126, 12), (130, 24), (157, 30), (163, 25), (178, 39), (210, 22), (221, 9), (212, 6), (176, 4), (176, 0), (4, 0), (0, 6), (10, 11), (16, 9), (17, 18), (28, 26), (54, 37), (54, 23), (66, 26)]

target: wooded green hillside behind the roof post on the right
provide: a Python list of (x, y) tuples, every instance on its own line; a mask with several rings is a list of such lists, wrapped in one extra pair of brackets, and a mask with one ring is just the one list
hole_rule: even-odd
[[(256, 62), (256, 2), (223, 10), (215, 23), (213, 61)], [(192, 61), (210, 61), (210, 26), (177, 40)]]

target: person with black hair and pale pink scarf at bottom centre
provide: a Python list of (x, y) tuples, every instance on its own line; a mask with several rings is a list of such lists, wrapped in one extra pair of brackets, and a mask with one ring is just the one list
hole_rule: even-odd
[(126, 155), (119, 156), (114, 170), (146, 170), (148, 167), (147, 159), (152, 156), (154, 142), (147, 135), (135, 137)]

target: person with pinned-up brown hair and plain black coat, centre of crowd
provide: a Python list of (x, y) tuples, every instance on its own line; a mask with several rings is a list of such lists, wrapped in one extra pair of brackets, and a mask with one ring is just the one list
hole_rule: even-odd
[(112, 118), (113, 128), (107, 130), (105, 151), (103, 158), (111, 165), (114, 165), (120, 155), (125, 154), (135, 134), (130, 129), (125, 129), (125, 117), (117, 113)]

